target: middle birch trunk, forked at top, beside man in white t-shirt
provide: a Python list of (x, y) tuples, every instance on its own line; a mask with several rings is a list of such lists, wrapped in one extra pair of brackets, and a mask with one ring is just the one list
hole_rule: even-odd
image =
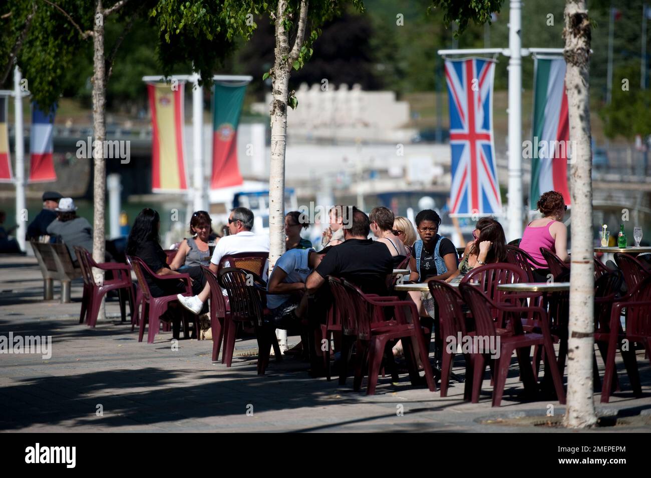
[[(298, 29), (294, 46), (290, 49), (289, 32), (285, 28), (287, 0), (279, 0), (275, 14), (275, 48), (273, 80), (271, 82), (271, 163), (269, 167), (269, 274), (277, 259), (285, 252), (284, 183), (285, 150), (287, 146), (287, 106), (289, 77), (305, 35), (307, 0), (301, 1)], [(278, 333), (280, 332), (280, 333)], [(286, 330), (277, 330), (281, 351), (287, 350)]]

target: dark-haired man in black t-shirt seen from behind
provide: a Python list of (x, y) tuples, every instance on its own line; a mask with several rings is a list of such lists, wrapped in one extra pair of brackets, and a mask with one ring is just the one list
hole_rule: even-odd
[(368, 216), (353, 207), (352, 225), (344, 229), (344, 242), (328, 250), (320, 265), (307, 277), (307, 289), (316, 291), (331, 275), (349, 280), (365, 293), (386, 295), (393, 258), (387, 246), (367, 239), (368, 233)]

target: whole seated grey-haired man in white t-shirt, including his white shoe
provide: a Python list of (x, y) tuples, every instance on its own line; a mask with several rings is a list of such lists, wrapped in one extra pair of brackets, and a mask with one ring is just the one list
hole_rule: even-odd
[[(269, 252), (269, 236), (254, 234), (251, 232), (251, 228), (253, 228), (253, 213), (250, 209), (236, 207), (230, 211), (230, 235), (217, 241), (212, 259), (210, 259), (210, 270), (212, 272), (217, 273), (219, 261), (224, 256), (239, 254), (240, 252)], [(268, 267), (265, 266), (264, 271), (266, 272), (267, 269)], [(262, 274), (263, 279), (265, 276), (266, 274)], [(192, 297), (178, 294), (176, 298), (190, 312), (199, 313), (209, 296), (210, 285), (206, 282), (206, 286), (199, 294)]]

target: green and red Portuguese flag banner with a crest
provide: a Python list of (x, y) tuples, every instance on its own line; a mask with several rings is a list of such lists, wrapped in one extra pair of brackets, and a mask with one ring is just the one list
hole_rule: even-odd
[(238, 166), (237, 131), (247, 83), (215, 83), (212, 120), (210, 188), (242, 184)]

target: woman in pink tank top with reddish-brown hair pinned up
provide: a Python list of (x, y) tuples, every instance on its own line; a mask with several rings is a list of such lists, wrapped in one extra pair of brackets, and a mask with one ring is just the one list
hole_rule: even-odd
[[(542, 218), (529, 222), (522, 234), (519, 248), (528, 252), (533, 259), (541, 263), (545, 263), (545, 259), (540, 254), (541, 247), (555, 252), (561, 261), (569, 262), (568, 228), (562, 222), (568, 207), (565, 206), (562, 194), (556, 191), (547, 191), (540, 196), (537, 206)], [(543, 282), (547, 280), (548, 269), (536, 270), (534, 264), (532, 267), (537, 280)]]

